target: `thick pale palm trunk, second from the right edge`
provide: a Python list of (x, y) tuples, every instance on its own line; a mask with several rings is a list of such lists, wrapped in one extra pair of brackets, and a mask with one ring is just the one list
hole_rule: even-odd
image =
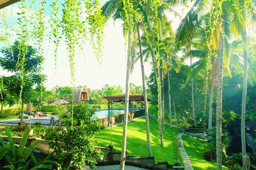
[(223, 84), (223, 35), (220, 31), (218, 45), (217, 65), (217, 98), (216, 98), (216, 162), (217, 169), (222, 169), (222, 146), (221, 146), (221, 113), (222, 113), (222, 84)]

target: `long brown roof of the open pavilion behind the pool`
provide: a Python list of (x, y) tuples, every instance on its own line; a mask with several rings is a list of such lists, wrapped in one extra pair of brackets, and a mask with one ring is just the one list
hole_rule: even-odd
[[(107, 101), (111, 102), (122, 102), (125, 101), (125, 96), (124, 95), (120, 95), (120, 96), (103, 96), (104, 99), (106, 99)], [(143, 95), (130, 95), (129, 96), (129, 101), (144, 101), (144, 96)]]

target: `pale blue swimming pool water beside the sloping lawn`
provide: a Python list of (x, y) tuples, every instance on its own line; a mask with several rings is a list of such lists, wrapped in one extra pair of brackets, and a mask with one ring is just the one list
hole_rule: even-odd
[[(129, 109), (129, 112), (131, 111), (138, 111), (143, 109)], [(122, 115), (124, 114), (124, 109), (106, 109), (106, 110), (98, 110), (96, 111), (96, 116), (98, 118), (107, 118), (107, 117), (113, 117), (115, 115)]]

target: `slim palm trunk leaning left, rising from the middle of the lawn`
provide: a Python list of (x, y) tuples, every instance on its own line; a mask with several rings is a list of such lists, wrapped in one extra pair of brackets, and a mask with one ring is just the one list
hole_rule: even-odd
[(142, 47), (141, 47), (141, 39), (140, 39), (140, 30), (139, 30), (139, 23), (137, 25), (137, 32), (138, 32), (138, 40), (140, 45), (140, 64), (141, 64), (141, 76), (142, 76), (142, 85), (143, 85), (143, 96), (144, 96), (144, 103), (145, 103), (145, 115), (146, 115), (146, 127), (147, 127), (147, 146), (148, 146), (148, 156), (152, 156), (151, 144), (150, 144), (150, 128), (149, 128), (149, 118), (148, 118), (148, 99), (147, 99), (147, 89), (145, 83), (145, 70), (143, 64), (143, 54), (142, 54)]

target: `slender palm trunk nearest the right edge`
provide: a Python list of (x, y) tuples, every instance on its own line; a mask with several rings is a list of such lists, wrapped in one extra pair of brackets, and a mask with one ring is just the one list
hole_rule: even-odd
[(243, 98), (241, 111), (241, 141), (242, 141), (242, 155), (243, 155), (243, 169), (247, 170), (248, 157), (246, 155), (246, 141), (245, 141), (245, 115), (246, 115), (246, 93), (247, 93), (247, 77), (248, 77), (248, 58), (246, 53), (246, 45), (244, 45), (244, 77), (243, 77)]

